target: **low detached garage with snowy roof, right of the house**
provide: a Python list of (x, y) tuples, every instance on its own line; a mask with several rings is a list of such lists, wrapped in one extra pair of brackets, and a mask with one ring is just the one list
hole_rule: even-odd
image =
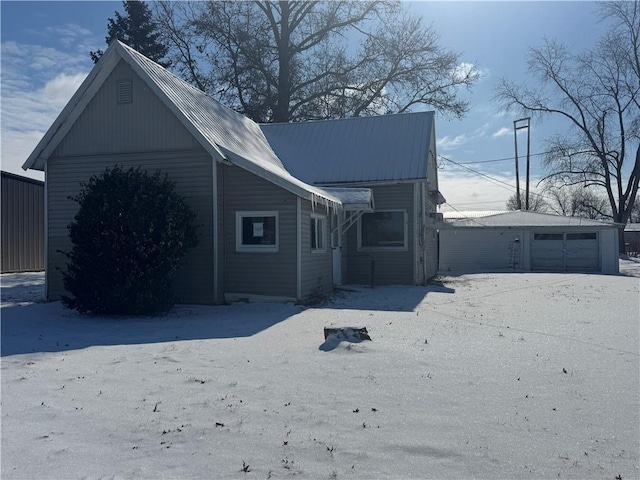
[(469, 218), (440, 229), (441, 273), (618, 273), (613, 223), (536, 212)]

